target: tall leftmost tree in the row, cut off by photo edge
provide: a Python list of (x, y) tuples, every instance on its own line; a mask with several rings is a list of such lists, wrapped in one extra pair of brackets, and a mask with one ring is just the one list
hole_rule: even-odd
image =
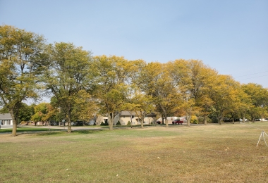
[(23, 101), (38, 97), (39, 75), (45, 61), (44, 43), (41, 35), (0, 26), (0, 101), (11, 113), (13, 136)]

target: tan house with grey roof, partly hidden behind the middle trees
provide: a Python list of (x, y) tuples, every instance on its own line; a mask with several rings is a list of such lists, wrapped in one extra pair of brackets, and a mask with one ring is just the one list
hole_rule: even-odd
[[(144, 118), (143, 124), (150, 125), (151, 122), (154, 122), (154, 118), (156, 118), (156, 116), (157, 115), (155, 115), (154, 113), (147, 114)], [(121, 123), (121, 125), (128, 125), (128, 122), (130, 122), (131, 125), (140, 125), (140, 113), (135, 113), (133, 111), (121, 111), (114, 118), (114, 125), (116, 125), (118, 121)]]

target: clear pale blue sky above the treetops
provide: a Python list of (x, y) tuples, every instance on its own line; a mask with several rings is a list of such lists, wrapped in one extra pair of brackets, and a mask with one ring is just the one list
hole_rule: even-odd
[(267, 0), (0, 0), (0, 25), (71, 42), (93, 56), (200, 60), (268, 88)]

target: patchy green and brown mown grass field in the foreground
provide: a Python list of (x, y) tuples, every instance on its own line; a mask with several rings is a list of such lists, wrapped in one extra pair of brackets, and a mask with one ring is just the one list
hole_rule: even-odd
[(0, 134), (0, 182), (267, 182), (262, 130), (268, 122)]

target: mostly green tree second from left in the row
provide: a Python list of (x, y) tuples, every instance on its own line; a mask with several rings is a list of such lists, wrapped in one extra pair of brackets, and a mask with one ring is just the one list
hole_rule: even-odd
[(50, 65), (44, 75), (47, 90), (54, 96), (54, 101), (61, 107), (71, 133), (72, 111), (75, 99), (81, 90), (92, 87), (92, 57), (90, 51), (71, 43), (55, 43), (47, 48)]

